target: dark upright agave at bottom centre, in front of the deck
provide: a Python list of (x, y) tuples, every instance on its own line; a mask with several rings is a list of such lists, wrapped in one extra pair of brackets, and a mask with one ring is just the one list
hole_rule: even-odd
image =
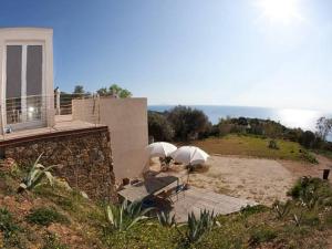
[(203, 235), (210, 231), (216, 225), (220, 226), (216, 221), (214, 211), (200, 210), (199, 219), (195, 217), (194, 212), (188, 214), (187, 231), (185, 235), (179, 229), (177, 230), (185, 237), (188, 243), (194, 243), (199, 241)]

